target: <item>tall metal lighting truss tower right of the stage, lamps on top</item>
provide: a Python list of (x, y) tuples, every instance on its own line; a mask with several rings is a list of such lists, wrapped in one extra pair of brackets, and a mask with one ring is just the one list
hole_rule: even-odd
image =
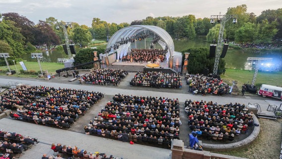
[(229, 19), (233, 18), (233, 23), (237, 22), (237, 15), (211, 15), (211, 23), (214, 23), (214, 20), (217, 20), (220, 22), (220, 29), (218, 33), (218, 40), (217, 40), (217, 46), (215, 51), (215, 60), (214, 60), (214, 66), (213, 66), (213, 75), (217, 75), (217, 69), (218, 69), (218, 63), (220, 59), (220, 53), (222, 49), (222, 43), (223, 43), (223, 33), (224, 33), (224, 26), (225, 22)]

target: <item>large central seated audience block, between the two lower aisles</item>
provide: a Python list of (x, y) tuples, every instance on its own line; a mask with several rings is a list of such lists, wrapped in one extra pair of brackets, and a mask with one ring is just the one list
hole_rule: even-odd
[(166, 147), (179, 139), (178, 99), (123, 94), (113, 99), (84, 126), (85, 134)]

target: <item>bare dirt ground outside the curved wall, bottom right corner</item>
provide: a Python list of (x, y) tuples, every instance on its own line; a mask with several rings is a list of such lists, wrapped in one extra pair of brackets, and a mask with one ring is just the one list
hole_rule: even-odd
[(279, 159), (282, 139), (282, 119), (259, 119), (260, 134), (249, 146), (228, 152), (214, 152), (248, 159)]

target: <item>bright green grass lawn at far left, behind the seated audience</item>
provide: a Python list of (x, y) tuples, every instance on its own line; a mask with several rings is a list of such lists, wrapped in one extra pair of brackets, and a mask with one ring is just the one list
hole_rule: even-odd
[[(37, 62), (23, 62), (27, 68), (28, 71), (35, 71), (35, 72), (39, 72), (40, 71), (40, 68), (39, 68), (39, 65)], [(48, 71), (48, 73), (50, 75), (54, 75), (56, 74), (56, 70), (58, 69), (62, 69), (64, 68), (64, 64), (61, 64), (61, 63), (43, 63), (41, 62), (41, 68), (42, 68), (42, 71)], [(11, 70), (16, 70), (15, 69), (15, 66), (14, 65), (10, 65), (9, 66)], [(18, 72), (20, 72), (20, 70), (23, 70), (22, 67), (19, 65), (19, 63), (17, 62), (16, 64), (16, 68), (18, 70)], [(6, 66), (0, 66), (0, 70), (2, 71), (5, 71), (7, 70), (8, 68)], [(5, 76), (6, 74), (5, 73), (0, 73), (0, 76)], [(24, 74), (20, 74), (20, 75), (17, 75), (17, 74), (14, 74), (14, 75), (10, 75), (12, 77), (21, 77), (21, 78), (36, 78), (37, 76), (35, 75), (24, 75)]]

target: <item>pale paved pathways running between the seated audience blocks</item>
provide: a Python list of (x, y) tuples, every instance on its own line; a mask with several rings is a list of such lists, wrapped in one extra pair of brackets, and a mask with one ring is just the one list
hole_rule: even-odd
[[(99, 91), (105, 94), (105, 98), (99, 101), (93, 108), (86, 113), (85, 116), (79, 118), (77, 122), (69, 129), (60, 130), (45, 126), (39, 126), (35, 124), (2, 119), (0, 120), (0, 128), (7, 131), (14, 131), (21, 133), (23, 135), (30, 135), (36, 138), (39, 138), (40, 142), (37, 146), (34, 146), (31, 150), (25, 152), (20, 159), (40, 159), (42, 154), (53, 154), (50, 151), (50, 145), (52, 143), (63, 143), (71, 146), (78, 146), (79, 148), (85, 149), (90, 152), (105, 152), (107, 154), (116, 155), (118, 157), (123, 157), (124, 159), (169, 159), (170, 150), (158, 149), (154, 147), (141, 146), (141, 145), (130, 145), (129, 143), (121, 143), (118, 141), (112, 141), (109, 139), (103, 139), (94, 136), (87, 136), (81, 134), (84, 132), (83, 126), (93, 119), (97, 115), (97, 112), (101, 110), (104, 104), (112, 99), (112, 96), (121, 93), (121, 94), (133, 94), (138, 96), (163, 96), (169, 98), (178, 98), (180, 101), (180, 117), (183, 122), (184, 127), (181, 128), (180, 139), (182, 139), (185, 145), (188, 144), (188, 127), (187, 118), (184, 111), (183, 103), (186, 99), (192, 100), (206, 100), (206, 101), (216, 101), (218, 104), (225, 103), (235, 103), (239, 102), (241, 104), (248, 103), (259, 103), (262, 107), (262, 110), (266, 110), (269, 104), (280, 105), (281, 101), (273, 100), (271, 98), (262, 98), (257, 95), (245, 95), (245, 96), (201, 96), (201, 95), (192, 95), (187, 92), (187, 85), (183, 79), (182, 89), (157, 89), (157, 88), (148, 88), (148, 87), (135, 87), (129, 84), (129, 81), (132, 79), (134, 74), (129, 74), (126, 79), (123, 79), (121, 84), (116, 86), (100, 86), (100, 85), (89, 85), (89, 84), (79, 84), (78, 81), (69, 82), (68, 78), (56, 77), (51, 80), (42, 80), (42, 79), (17, 79), (10, 77), (0, 77), (0, 85), (5, 85), (8, 81), (20, 81), (23, 84), (28, 85), (45, 85), (45, 86), (54, 86), (58, 87), (68, 87), (73, 89), (84, 89), (88, 91)], [(265, 100), (267, 99), (267, 100)]]

